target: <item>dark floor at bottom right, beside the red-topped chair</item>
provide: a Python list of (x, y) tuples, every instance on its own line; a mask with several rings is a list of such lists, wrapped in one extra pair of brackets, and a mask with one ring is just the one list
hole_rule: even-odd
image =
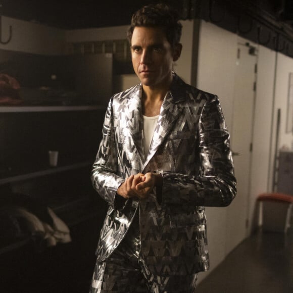
[(244, 240), (197, 288), (197, 293), (292, 293), (293, 228), (257, 232)]

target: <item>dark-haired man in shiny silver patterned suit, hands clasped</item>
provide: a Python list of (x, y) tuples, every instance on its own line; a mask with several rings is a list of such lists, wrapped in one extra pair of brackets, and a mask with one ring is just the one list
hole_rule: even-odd
[(204, 206), (225, 207), (235, 196), (217, 96), (172, 72), (181, 28), (164, 5), (132, 17), (141, 83), (110, 100), (93, 164), (93, 186), (109, 210), (91, 292), (193, 292), (209, 268)]

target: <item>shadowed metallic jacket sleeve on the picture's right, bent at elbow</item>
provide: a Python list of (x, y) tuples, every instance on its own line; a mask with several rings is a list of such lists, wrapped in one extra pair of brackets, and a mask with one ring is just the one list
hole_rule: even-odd
[(228, 206), (236, 195), (229, 133), (217, 96), (208, 100), (198, 128), (199, 176), (162, 173), (162, 204)]

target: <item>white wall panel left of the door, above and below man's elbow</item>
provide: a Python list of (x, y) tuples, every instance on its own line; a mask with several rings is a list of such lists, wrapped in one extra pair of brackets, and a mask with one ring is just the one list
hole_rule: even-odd
[[(198, 52), (198, 88), (216, 93), (229, 129), (232, 126), (237, 35), (201, 21)], [(206, 208), (211, 269), (225, 258), (227, 209)], [(199, 281), (208, 273), (199, 274)]]

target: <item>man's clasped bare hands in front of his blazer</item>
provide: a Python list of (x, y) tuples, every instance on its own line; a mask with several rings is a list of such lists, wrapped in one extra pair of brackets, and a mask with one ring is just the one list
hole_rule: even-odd
[(117, 194), (125, 199), (148, 197), (155, 186), (161, 186), (163, 177), (158, 173), (138, 173), (128, 177), (117, 189)]

